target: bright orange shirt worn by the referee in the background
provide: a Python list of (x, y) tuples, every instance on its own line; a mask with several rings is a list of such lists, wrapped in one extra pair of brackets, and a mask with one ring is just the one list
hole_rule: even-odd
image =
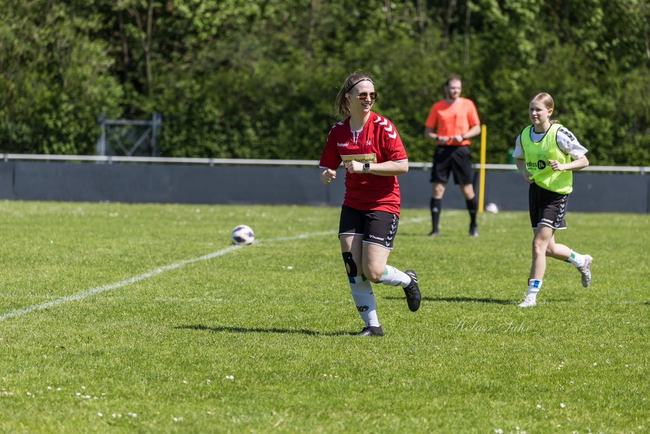
[[(437, 135), (452, 137), (454, 135), (463, 135), (471, 127), (480, 123), (476, 106), (474, 106), (472, 100), (460, 97), (451, 104), (447, 100), (435, 103), (431, 107), (424, 126), (431, 129), (435, 129), (435, 126), (437, 126)], [(469, 143), (469, 139), (465, 139), (460, 143), (452, 140), (447, 142), (448, 145), (452, 146), (467, 146)]]

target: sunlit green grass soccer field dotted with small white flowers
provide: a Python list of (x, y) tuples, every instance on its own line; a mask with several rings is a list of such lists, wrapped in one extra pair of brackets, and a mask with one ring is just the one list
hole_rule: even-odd
[[(339, 210), (0, 202), (2, 432), (647, 432), (648, 215), (569, 210), (538, 306), (527, 213), (402, 210), (354, 336)], [(249, 224), (257, 241), (231, 247)]]

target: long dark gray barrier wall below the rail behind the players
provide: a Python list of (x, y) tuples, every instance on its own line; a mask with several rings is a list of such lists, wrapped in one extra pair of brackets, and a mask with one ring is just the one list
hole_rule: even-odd
[[(430, 171), (400, 175), (402, 207), (428, 208)], [(0, 163), (0, 198), (79, 202), (180, 204), (299, 204), (340, 206), (344, 170), (331, 185), (315, 167)], [(571, 211), (650, 212), (650, 176), (575, 172)], [(475, 183), (478, 193), (478, 183)], [(527, 210), (528, 185), (519, 172), (486, 172), (485, 203)], [(447, 185), (445, 209), (465, 209), (460, 190)]]

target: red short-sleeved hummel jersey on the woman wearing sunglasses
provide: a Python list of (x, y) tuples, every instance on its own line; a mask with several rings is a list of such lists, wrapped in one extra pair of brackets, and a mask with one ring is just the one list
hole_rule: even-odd
[[(356, 137), (355, 137), (356, 136)], [(336, 170), (341, 163), (407, 161), (406, 150), (395, 126), (387, 118), (370, 112), (358, 135), (350, 131), (350, 118), (330, 129), (320, 157), (320, 167)], [(396, 176), (345, 172), (343, 205), (356, 210), (380, 210), (400, 215), (400, 186)]]

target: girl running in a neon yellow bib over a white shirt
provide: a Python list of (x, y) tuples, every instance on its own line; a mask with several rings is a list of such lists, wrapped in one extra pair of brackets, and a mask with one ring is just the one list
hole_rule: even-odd
[(534, 231), (528, 290), (519, 307), (536, 305), (546, 271), (546, 256), (573, 264), (580, 271), (585, 288), (591, 281), (593, 258), (555, 242), (555, 231), (567, 227), (564, 215), (569, 193), (573, 190), (572, 170), (584, 169), (589, 161), (586, 148), (571, 131), (551, 122), (553, 109), (553, 98), (549, 94), (537, 94), (530, 100), (528, 115), (532, 125), (517, 136), (512, 154), (517, 169), (530, 184), (528, 211)]

